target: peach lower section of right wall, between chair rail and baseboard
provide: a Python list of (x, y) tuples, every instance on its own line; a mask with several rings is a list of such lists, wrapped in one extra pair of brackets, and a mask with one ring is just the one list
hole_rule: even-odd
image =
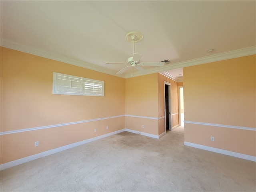
[[(214, 136), (214, 141), (210, 137)], [(255, 131), (185, 124), (185, 141), (204, 146), (256, 156)]]

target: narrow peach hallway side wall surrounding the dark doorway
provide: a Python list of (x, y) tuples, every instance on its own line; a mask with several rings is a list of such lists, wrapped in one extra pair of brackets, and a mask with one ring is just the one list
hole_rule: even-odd
[[(168, 82), (171, 84), (171, 108), (172, 108), (172, 127), (175, 127), (179, 124), (179, 114), (178, 114), (178, 82), (158, 73), (158, 116), (164, 117), (164, 82)], [(164, 121), (161, 123), (159, 127), (159, 135), (165, 132), (164, 125), (165, 120), (161, 119), (160, 121)]]

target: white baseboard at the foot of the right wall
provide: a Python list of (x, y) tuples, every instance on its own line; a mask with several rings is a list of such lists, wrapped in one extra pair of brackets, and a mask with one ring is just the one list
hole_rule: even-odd
[(256, 162), (256, 157), (184, 141), (184, 145)]

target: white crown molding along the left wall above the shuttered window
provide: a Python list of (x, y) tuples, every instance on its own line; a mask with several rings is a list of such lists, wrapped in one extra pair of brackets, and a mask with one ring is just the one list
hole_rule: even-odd
[(90, 69), (90, 70), (94, 70), (94, 71), (98, 71), (98, 72), (102, 72), (102, 73), (106, 73), (106, 74), (110, 74), (110, 75), (114, 75), (114, 76), (124, 78), (124, 75), (116, 74), (116, 73), (114, 73), (114, 72), (112, 72), (112, 71), (110, 71), (106, 68), (103, 68), (103, 67), (100, 67), (100, 66), (88, 63), (88, 62), (84, 62), (82, 60), (78, 60), (78, 59), (68, 57), (68, 56), (63, 56), (63, 55), (60, 55), (60, 54), (56, 54), (54, 52), (48, 52), (48, 51), (45, 51), (45, 50), (32, 48), (30, 46), (18, 44), (16, 42), (12, 42), (12, 41), (9, 41), (9, 40), (1, 39), (1, 46), (5, 47), (5, 48), (10, 48), (10, 49), (13, 49), (13, 50), (29, 53), (29, 54), (32, 54), (32, 55), (36, 55), (36, 56), (40, 56), (40, 57), (44, 57), (44, 58), (48, 58), (48, 59), (52, 59), (52, 60), (72, 64), (72, 65), (75, 65), (75, 66), (79, 66), (79, 67), (82, 67), (82, 68), (86, 68), (86, 69)]

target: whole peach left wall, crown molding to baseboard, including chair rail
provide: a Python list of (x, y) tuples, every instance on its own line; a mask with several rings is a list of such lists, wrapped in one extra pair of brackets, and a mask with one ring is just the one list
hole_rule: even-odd
[[(53, 72), (102, 80), (104, 97), (52, 94)], [(125, 79), (1, 47), (0, 114), (3, 164), (124, 129)]]

